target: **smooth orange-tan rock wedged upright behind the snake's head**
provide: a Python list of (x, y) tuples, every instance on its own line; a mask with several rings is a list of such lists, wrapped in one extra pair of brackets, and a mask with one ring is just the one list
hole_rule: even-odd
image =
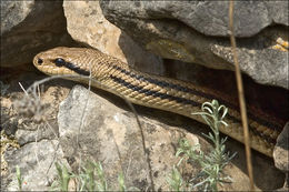
[[(78, 42), (88, 44), (107, 54), (147, 72), (162, 73), (162, 60), (139, 47), (102, 14), (99, 1), (63, 1), (67, 29)], [(153, 63), (153, 64), (152, 64)]]

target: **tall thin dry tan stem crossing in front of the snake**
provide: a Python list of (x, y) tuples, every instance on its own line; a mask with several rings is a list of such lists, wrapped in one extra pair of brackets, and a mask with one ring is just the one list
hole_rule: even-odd
[(246, 111), (246, 103), (243, 97), (243, 88), (242, 88), (242, 77), (240, 72), (240, 67), (238, 62), (238, 55), (236, 52), (236, 40), (233, 33), (233, 0), (230, 0), (229, 3), (229, 29), (230, 29), (230, 41), (232, 46), (232, 54), (233, 54), (233, 62), (236, 68), (236, 79), (237, 79), (237, 87), (239, 93), (239, 103), (241, 110), (241, 118), (242, 118), (242, 128), (243, 128), (243, 139), (245, 139), (245, 148), (246, 148), (246, 159), (247, 159), (247, 169), (250, 179), (250, 190), (255, 190), (253, 188), (253, 174), (252, 174), (252, 162), (251, 162), (251, 149), (250, 149), (250, 140), (249, 140), (249, 129), (248, 129), (248, 120), (247, 120), (247, 111)]

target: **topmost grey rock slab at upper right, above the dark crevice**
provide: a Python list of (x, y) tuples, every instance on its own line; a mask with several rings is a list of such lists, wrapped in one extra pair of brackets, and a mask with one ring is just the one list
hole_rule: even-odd
[[(180, 21), (207, 36), (228, 37), (228, 1), (102, 1), (104, 14)], [(108, 12), (107, 12), (108, 11)], [(128, 18), (129, 19), (129, 18)], [(236, 37), (251, 37), (273, 23), (289, 26), (286, 1), (236, 1)]]

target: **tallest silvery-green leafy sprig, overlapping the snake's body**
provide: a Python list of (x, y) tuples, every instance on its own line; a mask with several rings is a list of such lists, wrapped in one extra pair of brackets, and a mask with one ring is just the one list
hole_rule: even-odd
[(236, 155), (236, 153), (230, 155), (226, 152), (225, 142), (227, 138), (220, 139), (219, 134), (220, 125), (228, 125), (223, 121), (228, 109), (225, 105), (220, 105), (217, 100), (212, 100), (212, 102), (205, 102), (201, 105), (201, 110), (202, 112), (192, 114), (201, 115), (210, 127), (212, 133), (209, 132), (209, 134), (203, 135), (212, 141), (213, 149), (208, 154), (205, 154), (200, 145), (191, 146), (188, 140), (181, 139), (176, 155), (180, 156), (183, 154), (178, 164), (185, 158), (188, 158), (188, 160), (196, 161), (201, 166), (201, 172), (189, 182), (191, 189), (218, 191), (218, 183), (222, 185), (231, 182), (230, 176), (223, 173), (223, 169)]

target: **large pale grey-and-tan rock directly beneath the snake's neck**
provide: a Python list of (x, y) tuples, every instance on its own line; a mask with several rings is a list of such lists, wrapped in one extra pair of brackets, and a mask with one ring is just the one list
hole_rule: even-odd
[[(155, 190), (169, 190), (166, 178), (170, 174), (173, 164), (178, 162), (175, 156), (178, 140), (186, 137), (191, 143), (201, 141), (205, 149), (209, 145), (202, 139), (196, 138), (183, 129), (142, 115), (139, 118), (144, 135), (146, 152), (150, 159)], [(72, 168), (78, 168), (81, 154), (81, 161), (92, 159), (102, 163), (110, 189), (117, 189), (116, 181), (121, 171), (126, 175), (127, 186), (136, 186), (140, 190), (151, 189), (141, 133), (131, 112), (127, 112), (77, 85), (60, 104), (58, 122), (60, 143), (66, 156), (74, 162)], [(240, 153), (240, 156), (242, 154)], [(237, 161), (245, 162), (245, 159), (237, 158)], [(262, 159), (256, 161), (255, 168), (261, 169), (259, 166), (261, 165), (267, 169), (268, 174), (279, 176), (275, 173), (273, 166), (262, 162)], [(249, 185), (243, 184), (248, 183), (249, 180), (239, 166), (240, 164), (238, 166), (231, 164), (226, 169), (226, 173), (232, 176), (235, 182), (222, 186), (222, 189), (229, 191), (249, 190), (247, 188)], [(243, 166), (246, 168), (246, 164)], [(185, 175), (193, 175), (198, 172), (196, 165), (187, 164), (182, 170)], [(258, 180), (258, 185), (260, 182)], [(262, 182), (265, 181), (262, 180)], [(271, 189), (272, 186), (266, 188)]]

